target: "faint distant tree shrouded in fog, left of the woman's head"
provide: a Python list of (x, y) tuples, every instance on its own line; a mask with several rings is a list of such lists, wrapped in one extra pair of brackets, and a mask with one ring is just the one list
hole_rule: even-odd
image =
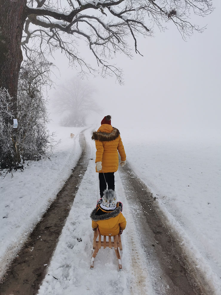
[(78, 77), (62, 85), (53, 102), (53, 106), (61, 115), (61, 126), (85, 126), (85, 119), (91, 111), (99, 111), (95, 102), (96, 89)]

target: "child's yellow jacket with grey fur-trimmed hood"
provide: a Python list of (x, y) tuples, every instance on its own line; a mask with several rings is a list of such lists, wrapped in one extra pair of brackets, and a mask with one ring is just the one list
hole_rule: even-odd
[(118, 207), (118, 203), (116, 209), (113, 211), (105, 211), (100, 205), (98, 205), (90, 214), (92, 228), (98, 227), (99, 232), (103, 236), (118, 235), (119, 231), (124, 230), (127, 224), (127, 221), (120, 210), (121, 208)]

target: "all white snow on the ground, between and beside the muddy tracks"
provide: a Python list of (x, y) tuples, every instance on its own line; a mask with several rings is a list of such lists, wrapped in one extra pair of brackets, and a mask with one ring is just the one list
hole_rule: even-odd
[[(118, 127), (128, 163), (156, 196), (195, 267), (213, 286), (214, 294), (221, 294), (220, 135), (179, 133), (175, 136), (168, 132), (162, 135), (145, 129)], [(51, 126), (51, 131), (55, 130), (57, 139), (62, 141), (50, 160), (26, 163), (24, 171), (13, 172), (13, 178), (9, 173), (0, 178), (1, 275), (7, 259), (16, 256), (79, 158), (78, 134), (82, 129)], [(91, 158), (94, 158), (91, 130), (86, 131), (85, 137), (91, 147)], [(71, 132), (75, 134), (73, 139)], [(117, 270), (113, 250), (99, 252), (94, 270), (90, 270), (93, 232), (89, 215), (97, 201), (97, 179), (94, 161), (89, 161), (52, 261), (47, 266), (49, 275), (39, 290), (41, 295), (155, 294), (142, 248), (136, 245), (139, 261), (135, 261), (130, 252), (134, 222), (118, 172), (116, 192), (127, 219), (122, 235), (123, 270)], [(82, 242), (77, 241), (78, 237)], [(138, 262), (142, 272), (137, 269)], [(105, 284), (98, 283), (101, 277)], [(168, 286), (162, 285), (162, 294), (166, 288)]]

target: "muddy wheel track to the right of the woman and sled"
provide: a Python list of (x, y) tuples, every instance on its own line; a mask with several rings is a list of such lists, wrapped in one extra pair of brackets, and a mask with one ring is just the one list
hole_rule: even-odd
[(188, 264), (175, 233), (151, 192), (127, 165), (119, 169), (137, 234), (145, 251), (155, 294), (206, 295), (209, 290), (200, 273)]

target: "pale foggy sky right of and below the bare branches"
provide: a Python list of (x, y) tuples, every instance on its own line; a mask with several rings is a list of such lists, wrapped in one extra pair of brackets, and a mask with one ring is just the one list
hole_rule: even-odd
[[(128, 124), (148, 129), (219, 130), (221, 3), (214, 1), (214, 5), (212, 14), (196, 19), (207, 29), (195, 32), (187, 42), (176, 27), (168, 25), (165, 32), (156, 28), (154, 37), (139, 38), (138, 49), (143, 56), (134, 53), (132, 60), (123, 54), (116, 58), (113, 62), (123, 68), (125, 85), (117, 84), (114, 77), (90, 77), (89, 82), (98, 89), (95, 99), (103, 109), (90, 120), (99, 126), (110, 114), (116, 127)], [(76, 75), (61, 54), (55, 64), (61, 73), (58, 80), (53, 79), (56, 84)], [(54, 94), (49, 91), (51, 99)]]

